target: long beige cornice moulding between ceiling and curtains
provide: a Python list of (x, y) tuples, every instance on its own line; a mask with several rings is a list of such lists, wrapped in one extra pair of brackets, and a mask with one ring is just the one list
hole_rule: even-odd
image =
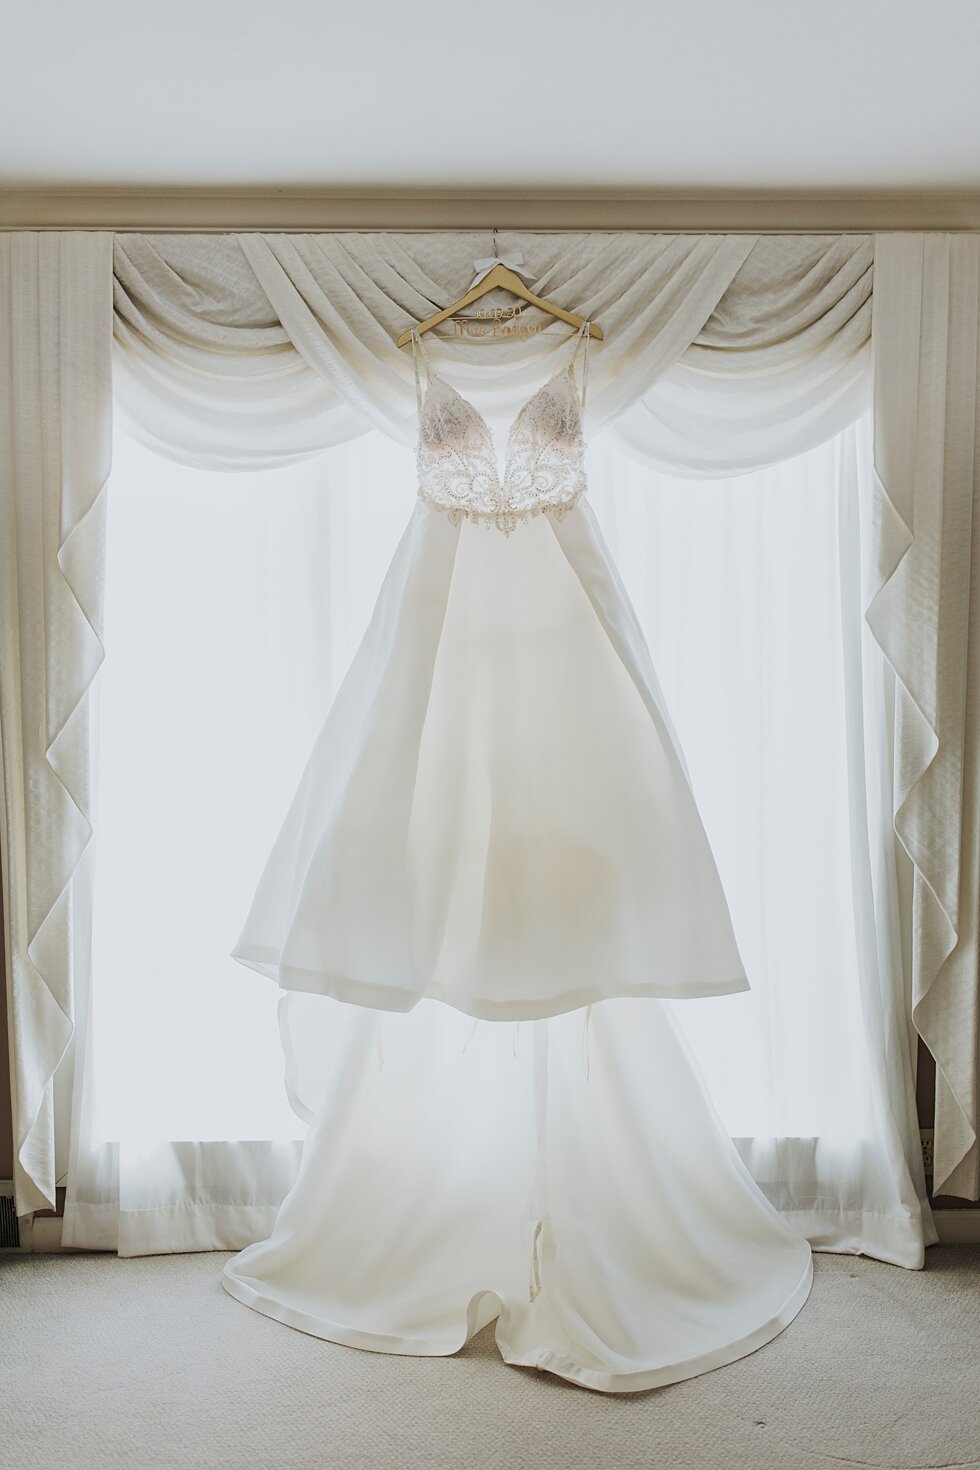
[(638, 234), (980, 231), (980, 191), (0, 188), (0, 229)]

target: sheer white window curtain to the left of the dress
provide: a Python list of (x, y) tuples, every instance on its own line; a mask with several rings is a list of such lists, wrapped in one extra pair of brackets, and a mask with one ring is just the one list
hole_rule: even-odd
[(306, 1126), (284, 1091), (278, 992), (229, 951), (411, 470), (381, 435), (239, 475), (115, 435), (69, 1245), (245, 1244), (292, 1179)]

